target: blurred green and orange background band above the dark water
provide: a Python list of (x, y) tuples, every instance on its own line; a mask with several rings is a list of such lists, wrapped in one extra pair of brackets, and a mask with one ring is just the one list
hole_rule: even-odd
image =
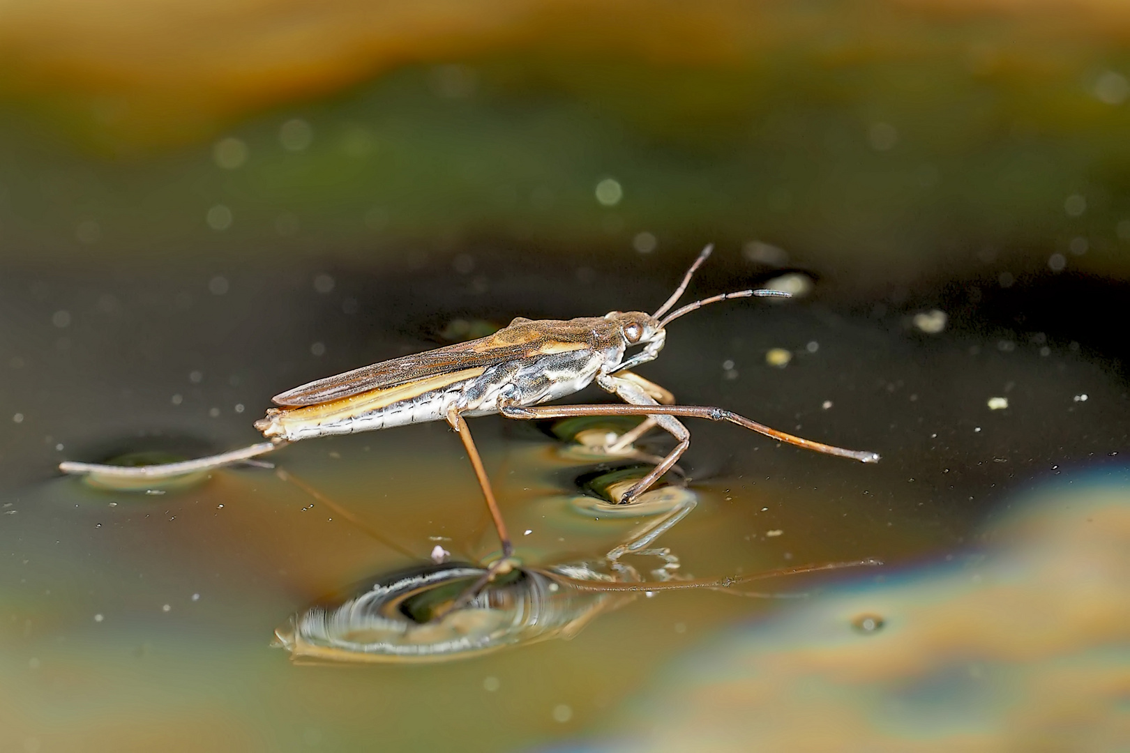
[(8, 0), (0, 247), (1122, 278), (1128, 42), (1103, 0)]

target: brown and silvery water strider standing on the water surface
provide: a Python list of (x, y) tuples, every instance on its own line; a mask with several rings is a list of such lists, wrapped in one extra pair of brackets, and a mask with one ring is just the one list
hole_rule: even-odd
[[(510, 559), (513, 546), (464, 415), (501, 413), (512, 419), (646, 417), (637, 427), (612, 440), (610, 448), (629, 446), (653, 427), (668, 431), (678, 444), (654, 469), (623, 490), (616, 500), (621, 505), (635, 501), (650, 489), (690, 446), (690, 432), (677, 417), (730, 421), (780, 441), (863, 463), (877, 462), (876, 453), (794, 437), (720, 408), (673, 405), (675, 396), (670, 392), (629, 370), (659, 356), (667, 340), (667, 324), (706, 304), (750, 296), (789, 296), (780, 290), (740, 290), (704, 298), (668, 314), (692, 275), (710, 256), (711, 248), (703, 249), (679, 287), (654, 314), (610, 312), (602, 317), (570, 321), (519, 317), (487, 338), (382, 361), (276, 395), (272, 400), (281, 408), (268, 410), (267, 417), (255, 422), (255, 428), (270, 438), (270, 443), (166, 465), (120, 467), (64, 462), (59, 467), (67, 473), (90, 473), (106, 479), (162, 479), (247, 461), (299, 439), (446, 420), (463, 441), (502, 541), (503, 563), (497, 569), (492, 566), (490, 572), (484, 576), (485, 583), (495, 572), (512, 567), (504, 562)], [(642, 350), (625, 358), (628, 348), (633, 347), (642, 347)], [(628, 404), (539, 405), (573, 394), (592, 382)]]

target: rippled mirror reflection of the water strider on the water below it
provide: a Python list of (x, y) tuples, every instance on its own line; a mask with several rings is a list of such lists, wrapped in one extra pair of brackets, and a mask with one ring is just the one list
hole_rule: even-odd
[[(590, 459), (592, 448), (586, 450)], [(607, 456), (605, 456), (607, 459)], [(654, 541), (697, 505), (695, 492), (660, 485), (637, 504), (611, 504), (616, 487), (638, 479), (606, 473), (590, 489), (605, 488), (608, 499), (581, 496), (565, 507), (607, 516), (653, 516), (602, 559), (547, 567), (514, 567), (492, 575), (490, 568), (466, 562), (428, 563), (357, 584), (293, 615), (275, 631), (276, 645), (294, 660), (306, 662), (445, 662), (481, 656), (506, 647), (550, 638), (572, 638), (594, 618), (633, 601), (670, 589), (712, 588), (749, 594), (741, 584), (835, 568), (879, 564), (877, 560), (785, 568), (748, 576), (678, 579), (678, 557)], [(607, 492), (606, 492), (607, 493)], [(588, 517), (588, 515), (586, 515)], [(644, 580), (627, 554), (655, 557), (660, 566)]]

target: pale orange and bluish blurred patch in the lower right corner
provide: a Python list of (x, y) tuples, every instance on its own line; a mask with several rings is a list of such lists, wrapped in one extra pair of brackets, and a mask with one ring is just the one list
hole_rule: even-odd
[(1127, 475), (1017, 499), (975, 553), (858, 584), (668, 666), (600, 751), (1120, 751)]

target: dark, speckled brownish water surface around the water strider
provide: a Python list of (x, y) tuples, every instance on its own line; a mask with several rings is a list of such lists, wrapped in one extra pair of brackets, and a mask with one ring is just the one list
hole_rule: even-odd
[[(770, 277), (719, 256), (693, 295)], [(675, 282), (646, 255), (586, 265), (481, 247), (405, 257), (416, 261), (32, 262), (5, 274), (3, 750), (525, 750), (614, 729), (626, 699), (652, 688), (672, 657), (793, 608), (791, 596), (657, 593), (596, 615), (571, 640), (479, 658), (292, 664), (271, 647), (275, 630), (327, 594), (428, 563), (437, 544), (467, 562), (496, 554), (446, 426), (303, 441), (268, 456), (337, 509), (266, 467), (223, 469), (155, 493), (97, 489), (55, 470), (63, 459), (252, 444), (270, 395), (436, 347), (463, 331), (457, 321), (650, 310)], [(697, 506), (657, 545), (694, 578), (884, 561), (758, 584), (809, 594), (805, 604), (837, 584), (972, 557), (985, 523), (1018, 496), (1122, 472), (1124, 343), (1088, 326), (1109, 321), (1120, 295), (1086, 280), (1001, 289), (972, 275), (866, 296), (817, 281), (807, 297), (734, 301), (673, 323), (662, 356), (641, 373), (681, 403), (883, 461), (688, 420), (680, 465)], [(1040, 314), (1049, 298), (1062, 301), (1062, 316)], [(930, 332), (935, 307), (948, 318)], [(771, 365), (781, 359), (774, 349), (786, 365)], [(577, 400), (606, 400), (585, 395)], [(599, 463), (570, 455), (545, 427), (488, 417), (471, 428), (523, 564), (599, 560), (640, 524), (593, 519), (563, 501)], [(652, 436), (642, 446), (658, 453), (670, 443)], [(655, 567), (627, 559), (645, 575)]]

